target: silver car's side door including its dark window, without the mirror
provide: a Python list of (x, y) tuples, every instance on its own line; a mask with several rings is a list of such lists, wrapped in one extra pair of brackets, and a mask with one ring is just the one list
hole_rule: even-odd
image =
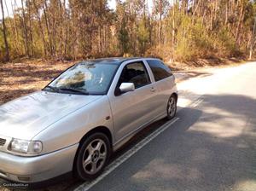
[(115, 92), (122, 83), (134, 83), (135, 90), (109, 97), (116, 140), (131, 135), (154, 118), (156, 91), (143, 61), (134, 61), (121, 68)]

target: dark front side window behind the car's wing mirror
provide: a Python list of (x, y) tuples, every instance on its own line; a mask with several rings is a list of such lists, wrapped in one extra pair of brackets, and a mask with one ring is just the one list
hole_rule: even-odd
[(133, 83), (135, 89), (151, 83), (143, 61), (133, 62), (124, 67), (119, 78), (118, 87), (122, 83)]

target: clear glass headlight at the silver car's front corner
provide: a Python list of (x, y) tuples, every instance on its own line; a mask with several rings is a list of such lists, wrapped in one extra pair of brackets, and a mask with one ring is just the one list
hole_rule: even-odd
[(9, 150), (17, 153), (38, 154), (43, 149), (42, 142), (30, 142), (20, 139), (13, 139), (9, 145)]

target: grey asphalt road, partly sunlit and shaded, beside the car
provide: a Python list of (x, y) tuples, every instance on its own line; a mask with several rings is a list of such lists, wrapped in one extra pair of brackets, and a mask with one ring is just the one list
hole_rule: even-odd
[(198, 73), (177, 85), (177, 118), (143, 130), (102, 177), (44, 190), (256, 190), (256, 63)]

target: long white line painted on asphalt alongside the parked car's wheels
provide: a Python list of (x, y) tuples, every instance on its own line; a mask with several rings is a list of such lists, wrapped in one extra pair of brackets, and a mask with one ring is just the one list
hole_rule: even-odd
[(104, 177), (107, 177), (113, 170), (115, 170), (119, 165), (125, 162), (125, 160), (129, 159), (133, 154), (137, 153), (141, 148), (151, 142), (156, 136), (159, 136), (164, 130), (169, 128), (172, 124), (174, 124), (179, 118), (174, 118), (166, 124), (163, 124), (157, 130), (154, 130), (149, 136), (145, 137), (142, 141), (138, 142), (134, 147), (128, 150), (126, 153), (121, 155), (118, 159), (113, 160), (113, 162), (108, 165), (103, 171), (102, 175), (97, 177), (95, 180), (90, 182), (84, 182), (78, 188), (75, 188), (74, 191), (87, 191), (96, 185), (97, 182), (100, 182)]

